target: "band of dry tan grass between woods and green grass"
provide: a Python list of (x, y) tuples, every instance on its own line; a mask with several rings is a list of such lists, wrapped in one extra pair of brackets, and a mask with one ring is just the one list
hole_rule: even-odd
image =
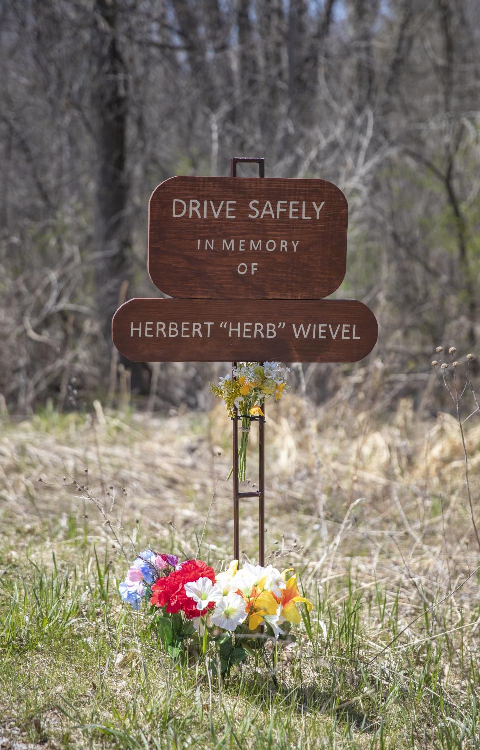
[[(467, 440), (478, 497), (480, 420), (468, 423)], [(255, 441), (252, 434), (253, 476)], [(7, 507), (22, 522), (81, 516), (87, 505), (94, 517), (74, 477), (80, 484), (88, 479), (91, 493), (113, 505), (112, 516), (133, 538), (139, 520), (143, 538), (173, 531), (186, 544), (201, 533), (213, 496), (204, 544), (216, 558), (231, 555), (231, 422), (221, 406), (159, 417), (105, 413), (97, 403), (86, 419), (70, 413), (5, 422), (0, 453)], [(255, 501), (245, 501), (241, 544), (249, 556), (256, 523)], [(407, 399), (379, 416), (371, 398), (352, 408), (341, 393), (322, 407), (293, 395), (270, 407), (267, 529), (267, 555), (306, 565), (322, 584), (354, 565), (365, 586), (400, 585), (405, 603), (410, 575), (427, 587), (449, 586), (479, 559), (455, 416), (426, 419)]]

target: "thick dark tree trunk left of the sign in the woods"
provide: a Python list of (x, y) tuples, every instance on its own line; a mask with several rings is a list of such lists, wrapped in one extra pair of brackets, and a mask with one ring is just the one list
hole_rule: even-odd
[(127, 217), (127, 74), (118, 48), (117, 0), (96, 0), (93, 36), (96, 66), (92, 89), (97, 180), (94, 238), (97, 308), (106, 340), (118, 306), (121, 284), (130, 279), (130, 227)]

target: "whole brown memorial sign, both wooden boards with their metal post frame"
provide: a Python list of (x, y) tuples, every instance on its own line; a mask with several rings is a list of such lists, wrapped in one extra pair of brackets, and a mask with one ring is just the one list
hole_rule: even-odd
[[(239, 161), (258, 163), (260, 177), (238, 179)], [(156, 287), (179, 299), (121, 306), (112, 338), (127, 359), (231, 361), (235, 371), (239, 361), (359, 362), (371, 353), (378, 335), (371, 310), (355, 300), (323, 299), (346, 271), (347, 199), (325, 180), (265, 178), (264, 166), (263, 158), (235, 157), (230, 178), (172, 177), (154, 190), (148, 271)], [(233, 413), (234, 557), (240, 559), (240, 499), (255, 497), (264, 565), (261, 407), (239, 414), (235, 402)], [(258, 420), (258, 490), (239, 490), (240, 420), (243, 456), (250, 430), (244, 425)]]

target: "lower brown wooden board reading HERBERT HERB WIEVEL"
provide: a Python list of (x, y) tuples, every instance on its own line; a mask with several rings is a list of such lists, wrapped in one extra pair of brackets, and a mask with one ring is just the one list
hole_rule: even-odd
[(377, 343), (362, 302), (132, 299), (112, 338), (133, 362), (358, 362)]

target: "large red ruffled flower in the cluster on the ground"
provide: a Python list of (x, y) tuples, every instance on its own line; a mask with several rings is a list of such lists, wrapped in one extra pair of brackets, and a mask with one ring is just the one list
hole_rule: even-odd
[[(184, 612), (188, 619), (201, 616), (204, 612), (197, 609), (194, 599), (185, 592), (185, 584), (192, 583), (198, 578), (210, 578), (212, 583), (215, 583), (215, 571), (203, 560), (186, 560), (180, 570), (174, 570), (154, 583), (151, 604), (157, 607), (166, 605), (169, 614)], [(214, 606), (213, 602), (210, 602), (208, 608), (213, 609)]]

